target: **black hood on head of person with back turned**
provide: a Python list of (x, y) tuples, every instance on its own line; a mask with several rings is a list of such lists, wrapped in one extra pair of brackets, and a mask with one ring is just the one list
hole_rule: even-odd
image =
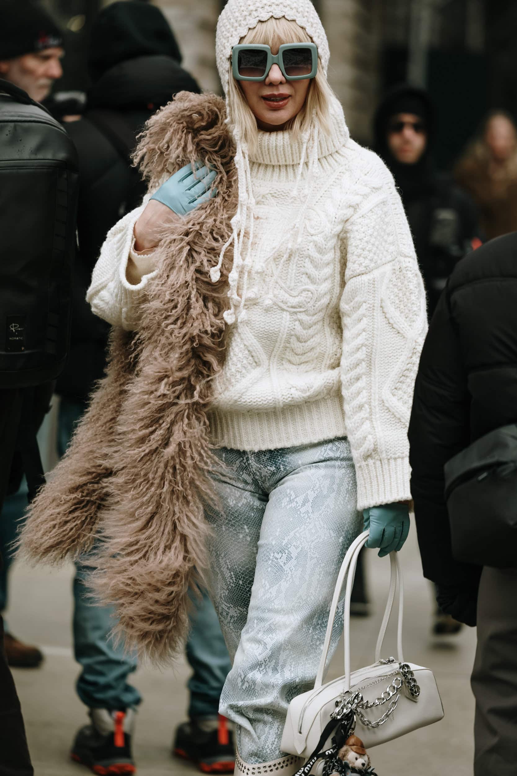
[(94, 83), (119, 62), (156, 54), (181, 62), (171, 27), (156, 5), (120, 0), (98, 14), (88, 53), (88, 70)]

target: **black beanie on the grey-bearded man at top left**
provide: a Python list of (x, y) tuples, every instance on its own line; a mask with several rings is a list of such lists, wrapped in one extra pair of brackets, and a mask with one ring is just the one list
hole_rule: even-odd
[(32, 0), (0, 0), (0, 60), (63, 45), (52, 17)]

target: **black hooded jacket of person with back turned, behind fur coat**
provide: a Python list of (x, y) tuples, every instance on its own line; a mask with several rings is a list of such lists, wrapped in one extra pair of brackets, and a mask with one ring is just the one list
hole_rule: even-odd
[(115, 2), (95, 21), (88, 57), (94, 82), (86, 111), (81, 120), (65, 124), (78, 149), (81, 182), (71, 349), (57, 383), (62, 396), (85, 400), (102, 377), (109, 326), (91, 313), (86, 291), (108, 230), (143, 193), (129, 162), (100, 128), (98, 112), (116, 113), (136, 144), (146, 120), (174, 94), (200, 91), (180, 61), (167, 20), (153, 5)]

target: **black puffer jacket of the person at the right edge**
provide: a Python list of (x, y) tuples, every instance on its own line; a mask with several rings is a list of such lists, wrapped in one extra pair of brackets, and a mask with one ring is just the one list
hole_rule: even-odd
[(481, 569), (457, 563), (443, 466), (488, 431), (517, 421), (517, 232), (454, 269), (422, 350), (409, 425), (412, 495), (424, 575), (439, 603), (475, 624)]

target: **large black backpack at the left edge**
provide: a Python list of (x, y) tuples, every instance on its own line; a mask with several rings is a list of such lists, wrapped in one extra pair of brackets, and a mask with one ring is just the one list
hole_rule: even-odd
[(0, 389), (12, 389), (64, 367), (78, 158), (47, 109), (2, 79), (0, 92)]

